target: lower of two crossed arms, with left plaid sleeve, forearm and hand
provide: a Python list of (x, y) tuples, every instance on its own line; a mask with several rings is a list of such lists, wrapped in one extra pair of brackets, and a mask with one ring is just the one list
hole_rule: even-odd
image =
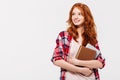
[(54, 49), (53, 57), (51, 59), (53, 64), (71, 72), (82, 73), (85, 76), (90, 75), (92, 71), (89, 68), (77, 67), (66, 61), (67, 55), (65, 54), (64, 50), (67, 50), (67, 48), (65, 49), (63, 45), (67, 45), (67, 43), (69, 42), (64, 43), (65, 38), (62, 37), (64, 37), (63, 32), (59, 34), (56, 40), (56, 47)]

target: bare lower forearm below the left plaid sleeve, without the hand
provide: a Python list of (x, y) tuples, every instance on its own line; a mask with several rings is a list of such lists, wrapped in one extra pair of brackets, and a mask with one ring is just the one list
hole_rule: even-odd
[(75, 73), (76, 72), (79, 72), (79, 73), (81, 72), (80, 67), (74, 66), (74, 65), (72, 65), (72, 64), (70, 64), (70, 63), (68, 63), (68, 62), (66, 62), (64, 60), (57, 60), (57, 61), (54, 61), (53, 63), (56, 66), (59, 66), (59, 67), (61, 67), (63, 69), (71, 71), (71, 72), (75, 72)]

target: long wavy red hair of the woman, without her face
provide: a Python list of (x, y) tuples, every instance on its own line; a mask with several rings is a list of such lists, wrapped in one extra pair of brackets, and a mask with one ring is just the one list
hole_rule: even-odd
[(73, 39), (77, 41), (78, 38), (77, 27), (73, 24), (71, 18), (72, 11), (74, 8), (78, 8), (79, 10), (81, 10), (82, 15), (84, 16), (84, 22), (82, 24), (84, 26), (84, 32), (82, 33), (83, 38), (82, 45), (86, 46), (87, 43), (95, 45), (95, 43), (97, 42), (97, 33), (95, 29), (96, 27), (91, 11), (87, 5), (82, 3), (75, 3), (72, 6), (69, 12), (69, 19), (67, 20), (67, 23), (69, 25), (67, 31), (73, 36)]

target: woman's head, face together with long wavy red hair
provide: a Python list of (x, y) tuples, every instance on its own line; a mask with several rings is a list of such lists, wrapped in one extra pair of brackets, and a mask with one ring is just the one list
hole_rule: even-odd
[(67, 31), (73, 36), (75, 41), (77, 41), (79, 37), (78, 31), (83, 29), (84, 33), (81, 35), (83, 38), (82, 45), (86, 46), (88, 42), (93, 45), (96, 44), (96, 25), (87, 5), (83, 3), (75, 3), (70, 9), (67, 23), (69, 26)]

